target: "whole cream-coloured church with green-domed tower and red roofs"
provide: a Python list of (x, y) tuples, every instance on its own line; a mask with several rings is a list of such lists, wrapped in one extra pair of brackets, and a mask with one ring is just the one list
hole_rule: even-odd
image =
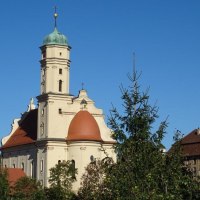
[(20, 168), (27, 176), (49, 186), (49, 169), (58, 162), (71, 160), (78, 170), (76, 191), (85, 167), (94, 159), (116, 159), (115, 141), (107, 127), (103, 111), (82, 89), (71, 95), (70, 50), (67, 37), (56, 26), (42, 43), (40, 60), (40, 94), (38, 106), (33, 99), (12, 130), (2, 139), (2, 165)]

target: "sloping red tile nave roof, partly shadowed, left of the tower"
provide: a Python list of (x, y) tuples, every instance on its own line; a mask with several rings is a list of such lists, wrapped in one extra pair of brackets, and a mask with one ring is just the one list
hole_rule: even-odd
[(25, 118), (19, 122), (17, 130), (11, 135), (1, 149), (34, 143), (37, 139), (37, 113), (37, 109), (27, 113)]

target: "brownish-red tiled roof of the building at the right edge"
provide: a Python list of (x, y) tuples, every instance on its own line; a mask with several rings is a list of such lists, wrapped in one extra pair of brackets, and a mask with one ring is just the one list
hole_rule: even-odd
[(181, 140), (184, 156), (200, 156), (200, 134), (195, 129)]

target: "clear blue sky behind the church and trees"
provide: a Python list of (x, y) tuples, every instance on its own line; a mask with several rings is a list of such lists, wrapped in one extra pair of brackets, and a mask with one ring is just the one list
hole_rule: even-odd
[(2, 0), (0, 137), (39, 95), (39, 47), (53, 31), (54, 5), (58, 29), (72, 46), (72, 94), (84, 82), (106, 116), (111, 103), (120, 108), (119, 85), (129, 84), (135, 52), (158, 122), (168, 116), (166, 147), (176, 129), (187, 134), (200, 126), (199, 0)]

